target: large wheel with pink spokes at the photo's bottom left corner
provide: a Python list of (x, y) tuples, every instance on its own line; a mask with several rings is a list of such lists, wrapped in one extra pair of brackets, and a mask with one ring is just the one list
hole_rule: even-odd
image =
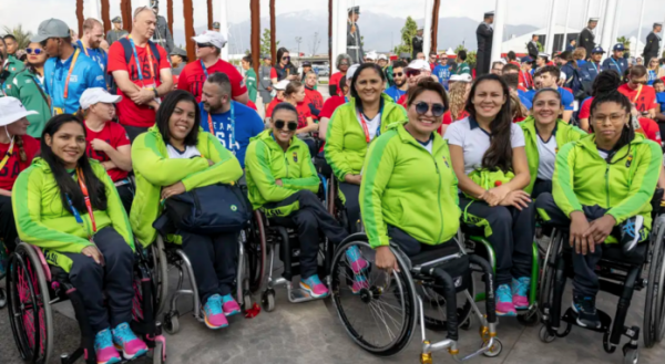
[(19, 353), (30, 363), (49, 363), (53, 351), (53, 319), (49, 282), (41, 259), (21, 242), (10, 258), (7, 288), (9, 319)]

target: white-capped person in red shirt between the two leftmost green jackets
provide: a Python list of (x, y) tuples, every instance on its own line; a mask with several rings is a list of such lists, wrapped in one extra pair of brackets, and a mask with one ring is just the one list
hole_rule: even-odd
[(85, 155), (99, 160), (111, 180), (127, 214), (134, 199), (134, 187), (127, 178), (132, 170), (131, 144), (122, 125), (112, 121), (115, 106), (122, 97), (101, 87), (88, 89), (81, 94), (81, 114), (85, 125)]

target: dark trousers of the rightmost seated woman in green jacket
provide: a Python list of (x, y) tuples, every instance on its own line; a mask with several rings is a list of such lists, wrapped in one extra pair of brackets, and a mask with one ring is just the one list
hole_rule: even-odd
[[(554, 198), (551, 194), (541, 195), (535, 201), (535, 207), (540, 212), (541, 217), (545, 220), (546, 223), (550, 223), (554, 227), (570, 227), (571, 219), (563, 214), (563, 211), (556, 206), (554, 202)], [(544, 210), (545, 214), (542, 212)], [(604, 209), (600, 206), (582, 206), (582, 210), (584, 211), (584, 216), (589, 221), (593, 221), (602, 218), (607, 209)], [(612, 231), (612, 235), (617, 239), (621, 239), (621, 231), (618, 227)], [(647, 236), (646, 233), (642, 233), (642, 236)], [(567, 241), (563, 242), (564, 245), (569, 243)], [(598, 275), (595, 272), (595, 268), (601, 261), (603, 257), (603, 246), (596, 245), (595, 251), (587, 251), (586, 256), (582, 253), (575, 252), (572, 250), (573, 258), (573, 270), (575, 272), (575, 277), (573, 279), (573, 294), (583, 295), (583, 297), (595, 297), (600, 290)]]

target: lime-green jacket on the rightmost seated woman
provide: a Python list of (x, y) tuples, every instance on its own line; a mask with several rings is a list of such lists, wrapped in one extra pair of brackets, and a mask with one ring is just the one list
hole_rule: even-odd
[[(654, 195), (663, 152), (655, 142), (642, 134), (621, 148), (607, 164), (598, 155), (595, 135), (564, 145), (556, 155), (552, 195), (556, 206), (566, 215), (582, 211), (582, 206), (598, 205), (620, 225), (642, 215), (651, 228), (651, 199)], [(606, 242), (615, 242), (608, 237)]]

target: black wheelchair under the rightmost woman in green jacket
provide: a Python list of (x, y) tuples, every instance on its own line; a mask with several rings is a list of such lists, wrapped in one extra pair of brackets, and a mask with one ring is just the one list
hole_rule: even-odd
[[(662, 196), (662, 194), (661, 194)], [(655, 205), (653, 229), (648, 241), (638, 243), (630, 256), (624, 256), (618, 246), (603, 247), (603, 256), (595, 271), (598, 274), (601, 291), (618, 297), (618, 304), (612, 318), (598, 310), (600, 329), (587, 330), (603, 334), (603, 349), (614, 353), (621, 344), (621, 336), (628, 337), (622, 347), (624, 363), (638, 363), (638, 340), (641, 329), (625, 325), (625, 320), (635, 291), (646, 289), (642, 333), (644, 345), (653, 347), (665, 336), (665, 214), (661, 211), (659, 197)], [(541, 272), (542, 327), (539, 337), (551, 343), (556, 337), (565, 337), (576, 325), (577, 315), (569, 308), (562, 315), (562, 297), (567, 278), (573, 278), (569, 228), (556, 227), (543, 261)], [(565, 325), (561, 332), (561, 325)]]

